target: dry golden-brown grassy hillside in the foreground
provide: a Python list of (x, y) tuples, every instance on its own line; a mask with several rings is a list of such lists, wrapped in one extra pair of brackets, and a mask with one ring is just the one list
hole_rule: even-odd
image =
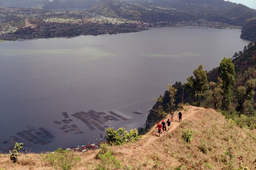
[[(135, 144), (112, 146), (112, 156), (121, 161), (122, 170), (170, 169), (180, 166), (182, 170), (228, 170), (237, 169), (242, 163), (251, 170), (256, 158), (256, 131), (238, 128), (233, 121), (227, 121), (212, 109), (187, 106), (183, 111), (183, 122), (177, 115), (171, 123), (171, 132), (156, 137), (151, 129)], [(182, 139), (184, 129), (194, 131), (193, 140), (187, 144)], [(76, 152), (81, 157), (78, 170), (97, 170), (102, 162), (96, 159), (98, 150)], [(19, 155), (13, 164), (8, 155), (0, 154), (0, 168), (5, 170), (52, 170), (49, 162), (40, 161), (39, 154)], [(111, 167), (111, 166), (110, 166)]]

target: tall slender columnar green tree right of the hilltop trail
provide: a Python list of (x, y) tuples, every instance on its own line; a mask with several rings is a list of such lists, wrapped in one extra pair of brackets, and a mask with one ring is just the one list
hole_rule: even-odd
[(232, 98), (232, 89), (235, 83), (235, 66), (229, 58), (223, 58), (218, 67), (222, 79), (222, 109), (228, 110)]

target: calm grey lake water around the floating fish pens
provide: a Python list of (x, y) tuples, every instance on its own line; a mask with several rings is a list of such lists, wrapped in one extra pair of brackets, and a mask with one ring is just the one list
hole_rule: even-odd
[[(239, 36), (239, 29), (173, 27), (2, 42), (0, 148), (11, 146), (2, 141), (28, 130), (28, 124), (43, 127), (55, 136), (50, 144), (34, 144), (34, 151), (95, 142), (104, 132), (91, 131), (71, 116), (91, 109), (106, 113), (112, 110), (130, 119), (108, 121), (109, 127), (144, 126), (153, 97), (164, 93), (167, 84), (185, 82), (198, 65), (209, 71), (223, 57), (242, 50), (249, 42)], [(84, 133), (64, 133), (60, 129), (64, 124), (54, 124), (64, 119), (62, 112), (67, 112), (74, 119), (70, 124)]]

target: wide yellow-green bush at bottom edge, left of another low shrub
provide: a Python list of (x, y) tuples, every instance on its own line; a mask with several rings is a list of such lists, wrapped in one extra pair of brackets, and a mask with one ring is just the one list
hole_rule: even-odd
[(76, 157), (74, 152), (58, 148), (54, 153), (47, 153), (42, 160), (49, 162), (56, 170), (71, 170), (81, 158)]

